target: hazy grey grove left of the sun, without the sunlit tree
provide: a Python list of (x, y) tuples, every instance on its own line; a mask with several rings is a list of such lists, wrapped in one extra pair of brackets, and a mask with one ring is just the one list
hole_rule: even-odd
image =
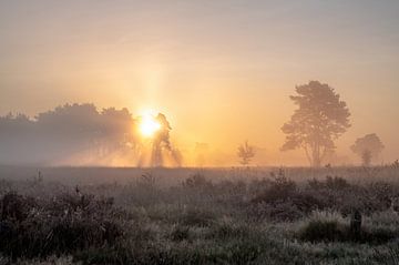
[(39, 113), (0, 116), (0, 163), (53, 165), (78, 157), (106, 163), (133, 153), (139, 135), (127, 109), (99, 111), (93, 104), (64, 104)]

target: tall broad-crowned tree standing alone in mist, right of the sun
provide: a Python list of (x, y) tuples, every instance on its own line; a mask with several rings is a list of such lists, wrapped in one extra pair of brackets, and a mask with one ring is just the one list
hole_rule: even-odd
[(290, 99), (298, 106), (282, 131), (287, 134), (282, 151), (304, 149), (311, 166), (319, 167), (334, 141), (350, 128), (346, 102), (328, 84), (310, 81), (295, 88)]

